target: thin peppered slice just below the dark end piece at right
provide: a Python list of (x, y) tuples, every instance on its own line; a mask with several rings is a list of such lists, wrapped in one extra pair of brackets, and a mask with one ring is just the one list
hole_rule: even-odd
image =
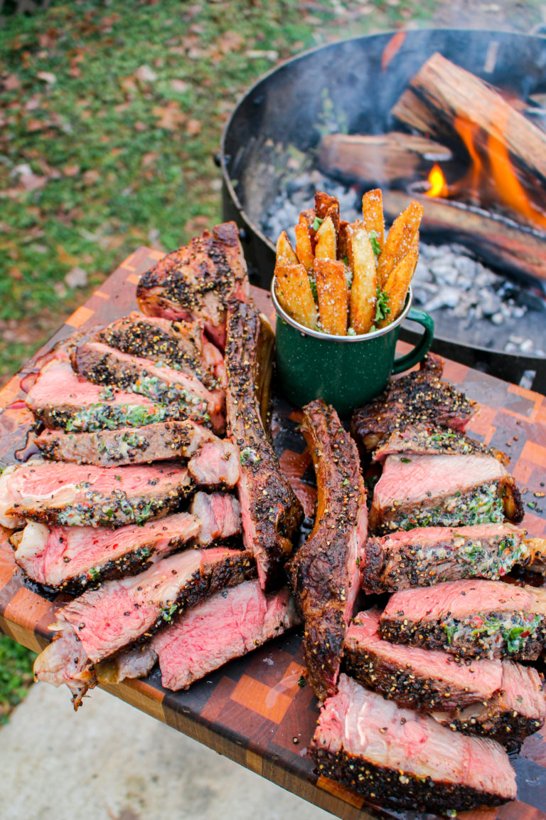
[(449, 427), (413, 424), (403, 430), (394, 430), (385, 444), (381, 444), (373, 460), (383, 463), (387, 456), (394, 453), (414, 456), (424, 453), (442, 455), (479, 455), (498, 458), (506, 466), (509, 458), (506, 453), (494, 450), (481, 444), (481, 441), (468, 438), (467, 435)]

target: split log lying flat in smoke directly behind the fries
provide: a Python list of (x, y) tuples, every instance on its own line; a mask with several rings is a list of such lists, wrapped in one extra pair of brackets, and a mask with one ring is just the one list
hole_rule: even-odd
[(318, 167), (350, 183), (408, 184), (426, 175), (431, 162), (449, 162), (452, 157), (449, 148), (417, 134), (327, 134)]

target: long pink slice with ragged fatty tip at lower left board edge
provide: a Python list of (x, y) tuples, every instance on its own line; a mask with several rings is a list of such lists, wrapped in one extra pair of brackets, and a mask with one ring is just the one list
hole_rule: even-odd
[(86, 688), (97, 682), (94, 663), (146, 642), (183, 609), (254, 576), (248, 551), (190, 549), (163, 558), (138, 576), (106, 581), (57, 610), (60, 637), (38, 655), (34, 675), (56, 686), (74, 681), (78, 708)]

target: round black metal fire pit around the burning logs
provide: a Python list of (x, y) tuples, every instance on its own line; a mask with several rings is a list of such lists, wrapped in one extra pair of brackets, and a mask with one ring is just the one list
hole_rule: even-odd
[[(336, 130), (393, 130), (391, 108), (434, 52), (516, 97), (546, 93), (546, 39), (483, 30), (421, 30), (316, 48), (265, 75), (241, 99), (224, 130), (219, 155), (223, 216), (241, 227), (255, 284), (267, 287), (274, 266), (274, 237), (265, 235), (260, 225), (274, 200), (290, 196), (300, 157), (312, 161), (323, 134)], [(442, 237), (446, 240), (449, 237)], [(482, 255), (495, 261), (487, 259), (486, 248)], [(517, 276), (517, 271), (506, 273)], [(529, 281), (537, 289), (544, 287)], [(544, 317), (546, 337), (546, 313)], [(517, 383), (526, 371), (534, 371), (533, 388), (546, 393), (546, 359), (471, 347), (462, 336), (450, 338), (438, 326), (433, 349)], [(408, 330), (405, 337), (411, 337)]]

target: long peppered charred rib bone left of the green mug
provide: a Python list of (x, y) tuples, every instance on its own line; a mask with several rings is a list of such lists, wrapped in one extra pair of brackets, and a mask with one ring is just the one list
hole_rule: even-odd
[(237, 490), (243, 539), (246, 549), (255, 554), (262, 589), (270, 591), (282, 585), (282, 568), (303, 509), (282, 476), (262, 421), (268, 404), (273, 331), (254, 307), (237, 300), (229, 303), (227, 328), (228, 433), (241, 453)]

